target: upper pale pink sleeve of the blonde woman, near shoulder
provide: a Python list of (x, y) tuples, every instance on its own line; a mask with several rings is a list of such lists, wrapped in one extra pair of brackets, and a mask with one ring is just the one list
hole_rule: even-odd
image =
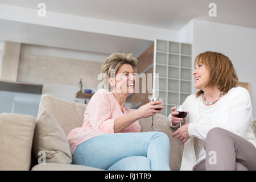
[(110, 118), (112, 113), (111, 101), (109, 93), (98, 90), (90, 100), (89, 106), (89, 121), (94, 130), (114, 133), (114, 120)]

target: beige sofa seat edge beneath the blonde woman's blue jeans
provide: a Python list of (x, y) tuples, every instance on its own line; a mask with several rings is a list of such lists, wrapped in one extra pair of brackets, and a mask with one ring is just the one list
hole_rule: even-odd
[(102, 169), (75, 164), (46, 163), (37, 164), (31, 171), (104, 171)]

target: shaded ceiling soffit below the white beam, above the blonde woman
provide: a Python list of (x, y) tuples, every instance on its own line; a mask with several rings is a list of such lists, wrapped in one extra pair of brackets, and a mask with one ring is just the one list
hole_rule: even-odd
[(0, 30), (0, 40), (97, 52), (106, 55), (113, 52), (125, 52), (133, 53), (133, 56), (138, 57), (153, 43), (150, 40), (74, 31), (2, 19), (0, 19)]

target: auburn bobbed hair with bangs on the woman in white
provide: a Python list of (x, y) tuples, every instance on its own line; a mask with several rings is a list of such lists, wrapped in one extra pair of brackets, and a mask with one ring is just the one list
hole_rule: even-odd
[[(195, 65), (199, 63), (205, 65), (209, 71), (209, 81), (205, 87), (218, 85), (221, 92), (228, 92), (236, 87), (238, 78), (229, 57), (222, 53), (207, 51), (196, 57)], [(200, 90), (196, 93), (196, 97), (202, 93), (203, 90)]]

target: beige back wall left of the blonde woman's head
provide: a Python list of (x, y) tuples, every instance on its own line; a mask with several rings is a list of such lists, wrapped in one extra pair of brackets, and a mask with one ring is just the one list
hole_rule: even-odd
[[(22, 44), (18, 80), (43, 84), (42, 94), (50, 94), (65, 100), (76, 98), (82, 78), (83, 88), (96, 92), (97, 75), (108, 55), (71, 49)], [(89, 101), (89, 100), (87, 100)]]

